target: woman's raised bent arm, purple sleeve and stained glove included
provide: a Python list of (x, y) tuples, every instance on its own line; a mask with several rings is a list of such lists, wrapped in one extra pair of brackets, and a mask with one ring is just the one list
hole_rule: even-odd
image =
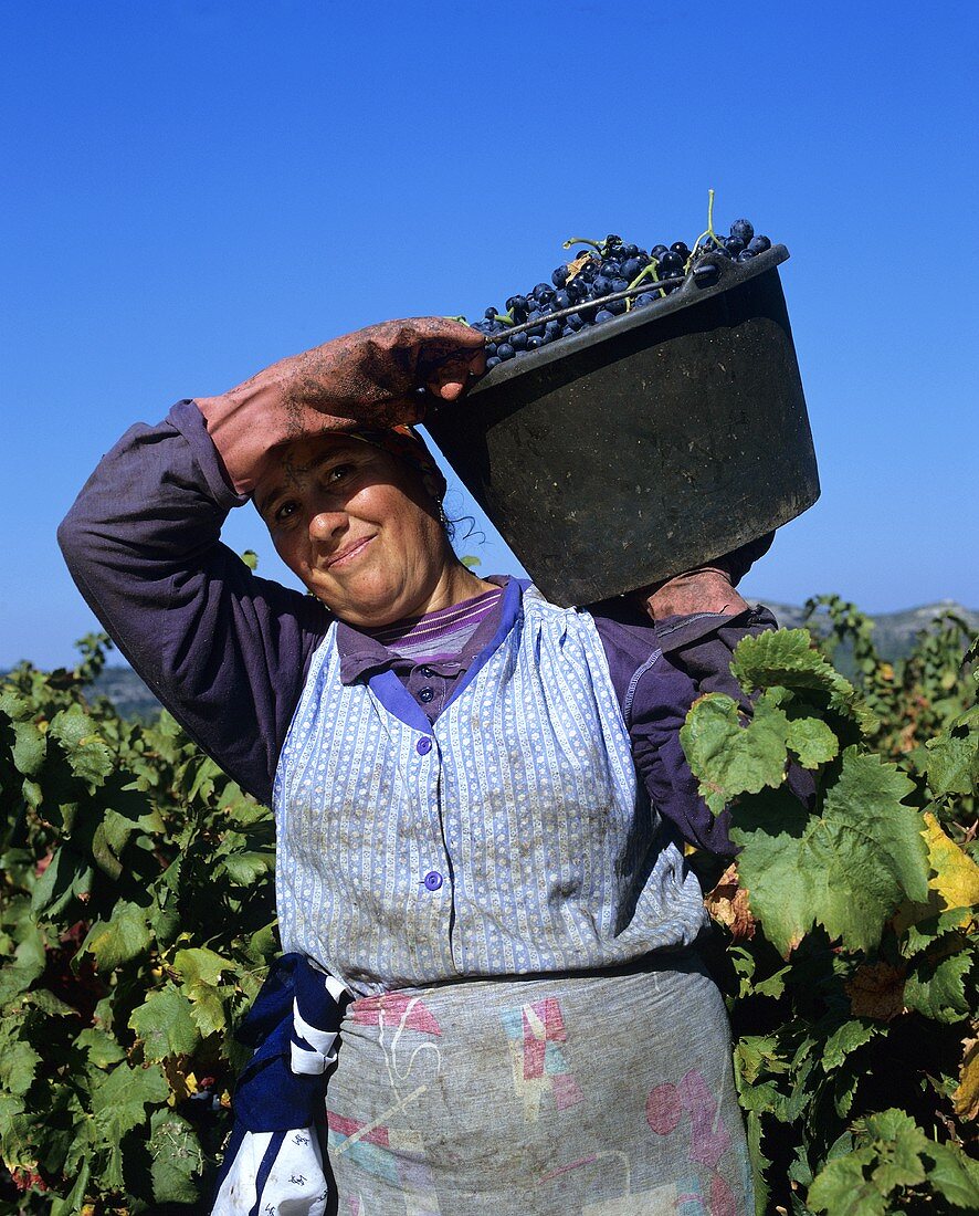
[(309, 657), (330, 623), (220, 542), (269, 452), (323, 430), (411, 421), (418, 389), (454, 400), (483, 336), (437, 317), (371, 326), (229, 393), (181, 401), (102, 458), (58, 529), (92, 612), (161, 702), (268, 801)]

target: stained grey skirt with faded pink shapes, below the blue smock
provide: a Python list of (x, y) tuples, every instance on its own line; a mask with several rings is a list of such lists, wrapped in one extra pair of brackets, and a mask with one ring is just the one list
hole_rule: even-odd
[(750, 1216), (720, 993), (691, 952), (354, 1001), (338, 1216)]

